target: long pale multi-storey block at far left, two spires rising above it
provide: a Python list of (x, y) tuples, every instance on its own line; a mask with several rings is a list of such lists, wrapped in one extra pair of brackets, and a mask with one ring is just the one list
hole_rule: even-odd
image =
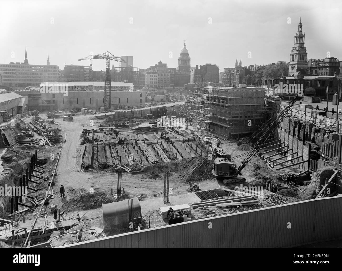
[(38, 86), (45, 81), (58, 81), (58, 69), (58, 66), (50, 65), (49, 59), (47, 65), (30, 65), (25, 48), (23, 63), (0, 64), (1, 85), (16, 88)]

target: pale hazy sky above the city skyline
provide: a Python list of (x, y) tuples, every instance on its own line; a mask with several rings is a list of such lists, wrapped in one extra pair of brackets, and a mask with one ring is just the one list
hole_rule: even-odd
[(0, 63), (23, 62), (26, 46), (30, 64), (46, 64), (49, 53), (60, 69), (106, 51), (133, 56), (135, 67), (176, 68), (184, 39), (192, 67), (289, 61), (299, 17), (308, 58), (342, 58), (341, 10), (340, 0), (1, 0)]

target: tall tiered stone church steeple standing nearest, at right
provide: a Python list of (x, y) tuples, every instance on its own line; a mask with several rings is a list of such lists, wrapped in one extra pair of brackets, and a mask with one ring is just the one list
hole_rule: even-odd
[(306, 47), (304, 46), (305, 33), (302, 32), (302, 20), (299, 19), (298, 31), (294, 34), (294, 43), (290, 54), (289, 76), (297, 71), (306, 74), (307, 59)]

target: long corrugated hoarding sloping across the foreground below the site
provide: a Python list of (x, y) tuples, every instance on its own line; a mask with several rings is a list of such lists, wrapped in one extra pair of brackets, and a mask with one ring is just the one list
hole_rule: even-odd
[(313, 199), (64, 247), (287, 247), (342, 238), (342, 197)]

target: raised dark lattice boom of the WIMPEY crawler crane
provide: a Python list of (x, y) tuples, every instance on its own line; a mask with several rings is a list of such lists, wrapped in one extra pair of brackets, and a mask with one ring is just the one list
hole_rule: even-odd
[(241, 165), (239, 166), (237, 172), (240, 173), (242, 169), (248, 164), (248, 162), (252, 159), (252, 157), (255, 155), (255, 153), (258, 152), (260, 148), (260, 143), (262, 143), (263, 140), (265, 140), (266, 134), (276, 129), (279, 125), (279, 123), (282, 121), (282, 119), (287, 115), (287, 113), (291, 110), (293, 104), (297, 100), (298, 94), (285, 106), (285, 108), (281, 111), (281, 113), (275, 118), (275, 120), (267, 126), (264, 133), (261, 135), (259, 140), (254, 144), (253, 148), (250, 150), (250, 152), (247, 154), (245, 159), (241, 162)]

